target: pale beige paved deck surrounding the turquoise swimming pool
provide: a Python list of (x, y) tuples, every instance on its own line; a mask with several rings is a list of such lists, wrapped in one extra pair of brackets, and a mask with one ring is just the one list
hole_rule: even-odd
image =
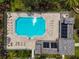
[(34, 13), (33, 17), (44, 17), (46, 20), (46, 33), (42, 37), (29, 40), (28, 37), (21, 37), (15, 33), (15, 20), (18, 17), (28, 17), (27, 13), (8, 12), (7, 13), (7, 37), (11, 39), (7, 44), (7, 49), (34, 49), (37, 40), (56, 41), (59, 35), (60, 13)]

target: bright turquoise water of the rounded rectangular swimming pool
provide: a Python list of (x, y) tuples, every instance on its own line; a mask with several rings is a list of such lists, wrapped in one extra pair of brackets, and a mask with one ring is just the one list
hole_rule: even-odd
[(15, 21), (15, 32), (20, 36), (42, 36), (45, 29), (45, 19), (43, 17), (19, 17)]

